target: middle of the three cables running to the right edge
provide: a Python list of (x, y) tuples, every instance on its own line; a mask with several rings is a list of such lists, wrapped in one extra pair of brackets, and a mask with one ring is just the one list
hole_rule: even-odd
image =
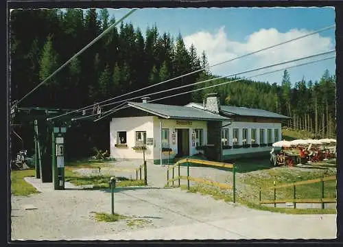
[(218, 78), (211, 78), (209, 80), (203, 80), (203, 81), (200, 81), (200, 82), (194, 82), (194, 83), (191, 83), (191, 84), (186, 84), (186, 85), (182, 85), (182, 86), (177, 86), (175, 88), (171, 88), (171, 89), (165, 89), (163, 91), (157, 91), (157, 92), (154, 92), (154, 93), (148, 93), (146, 95), (141, 95), (141, 96), (137, 96), (137, 97), (132, 97), (130, 99), (122, 99), (122, 100), (119, 100), (117, 102), (112, 102), (112, 103), (108, 103), (108, 104), (103, 104), (102, 107), (104, 106), (110, 106), (110, 105), (113, 105), (113, 104), (119, 104), (121, 102), (127, 102), (129, 100), (132, 100), (132, 99), (139, 99), (141, 97), (147, 97), (147, 96), (151, 96), (151, 95), (156, 95), (158, 93), (166, 93), (166, 92), (169, 92), (169, 91), (174, 91), (174, 90), (177, 90), (177, 89), (183, 89), (187, 86), (195, 86), (195, 85), (198, 85), (198, 84), (202, 84), (202, 83), (205, 83), (205, 82), (211, 82), (211, 81), (214, 81), (214, 80), (219, 80), (219, 79), (223, 79), (223, 78), (230, 78), (230, 77), (233, 77), (233, 76), (237, 76), (237, 75), (241, 75), (241, 74), (244, 74), (244, 73), (250, 73), (250, 72), (253, 72), (253, 71), (258, 71), (258, 70), (261, 70), (261, 69), (268, 69), (270, 67), (276, 67), (276, 66), (279, 66), (279, 65), (283, 65), (283, 64), (287, 64), (289, 62), (297, 62), (297, 61), (300, 61), (300, 60), (304, 60), (304, 59), (307, 59), (307, 58), (314, 58), (316, 56), (322, 56), (322, 55), (326, 55), (326, 54), (330, 54), (330, 53), (333, 53), (335, 52), (334, 49), (330, 50), (330, 51), (324, 51), (324, 52), (321, 52), (320, 54), (314, 54), (314, 55), (311, 55), (311, 56), (305, 56), (305, 57), (302, 57), (302, 58), (296, 58), (294, 60), (288, 60), (288, 61), (285, 61), (285, 62), (278, 62), (276, 64), (272, 64), (272, 65), (267, 65), (267, 66), (264, 66), (264, 67), (259, 67), (257, 69), (250, 69), (248, 71), (241, 71), (239, 73), (233, 73), (233, 74), (230, 74), (230, 75), (224, 75), (224, 76), (220, 76)]

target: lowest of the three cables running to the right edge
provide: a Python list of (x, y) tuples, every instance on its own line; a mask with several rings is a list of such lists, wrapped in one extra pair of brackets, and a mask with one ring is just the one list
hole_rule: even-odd
[[(176, 96), (179, 96), (179, 95), (184, 95), (184, 94), (187, 94), (187, 93), (193, 93), (193, 92), (196, 92), (196, 91), (201, 91), (201, 90), (204, 90), (204, 89), (211, 89), (215, 86), (222, 86), (222, 85), (225, 85), (225, 84), (228, 84), (228, 83), (231, 83), (231, 82), (239, 82), (241, 80), (247, 80), (249, 78), (254, 78), (254, 77), (257, 77), (257, 76), (261, 76), (261, 75), (268, 75), (270, 73), (276, 73), (276, 72), (279, 72), (279, 71), (284, 71), (285, 69), (292, 69), (292, 68), (295, 68), (295, 67), (300, 67), (300, 66), (304, 66), (304, 65), (307, 65), (307, 64), (312, 64), (312, 63), (315, 63), (315, 62), (321, 62), (321, 61), (324, 61), (324, 60), (329, 60), (329, 59), (333, 59), (335, 58), (335, 56), (331, 56), (329, 58), (322, 58), (322, 59), (318, 59), (318, 60), (313, 60), (313, 61), (309, 61), (309, 62), (304, 62), (302, 64), (296, 64), (296, 65), (293, 65), (293, 66), (289, 66), (289, 67), (285, 67), (283, 69), (277, 69), (277, 70), (274, 70), (274, 71), (268, 71), (268, 72), (264, 72), (264, 73), (259, 73), (257, 75), (251, 75), (251, 76), (248, 76), (246, 78), (239, 78), (237, 80), (230, 80), (228, 82), (222, 82), (220, 84), (215, 84), (215, 85), (211, 85), (211, 86), (205, 86), (203, 88), (200, 88), (200, 89), (194, 89), (194, 90), (191, 90), (191, 91), (187, 91), (187, 92), (182, 92), (182, 93), (177, 93), (177, 94), (174, 94), (174, 95), (169, 95), (169, 96), (166, 96), (166, 97), (161, 97), (161, 98), (158, 98), (158, 99), (152, 99), (152, 100), (149, 100), (147, 102), (155, 102), (155, 101), (158, 101), (158, 100), (161, 100), (161, 99), (167, 99), (167, 98), (170, 98), (170, 97), (176, 97)], [(102, 117), (99, 117), (99, 119), (95, 119), (94, 121), (99, 121), (100, 119), (103, 119), (104, 117), (107, 117), (108, 115), (112, 114), (112, 113), (115, 113), (117, 110), (121, 110), (121, 109), (124, 109), (124, 108), (129, 108), (131, 106), (122, 106), (121, 108), (113, 108), (111, 110), (108, 110), (106, 111), (105, 113), (107, 113), (106, 115), (102, 116)], [(75, 119), (77, 120), (77, 119)]]

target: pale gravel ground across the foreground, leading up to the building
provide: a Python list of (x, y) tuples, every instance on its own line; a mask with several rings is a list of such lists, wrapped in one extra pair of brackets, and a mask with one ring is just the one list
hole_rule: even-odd
[[(114, 170), (104, 167), (101, 173), (135, 177), (130, 169), (137, 166), (121, 161), (113, 163)], [(163, 189), (166, 169), (167, 166), (148, 164), (148, 187), (115, 189), (115, 212), (130, 217), (119, 222), (97, 222), (93, 218), (93, 212), (110, 213), (110, 191), (106, 189), (85, 191), (66, 183), (65, 191), (54, 191), (51, 183), (26, 178), (42, 192), (28, 197), (12, 196), (12, 239), (335, 238), (335, 215), (256, 211), (211, 196)], [(78, 172), (95, 174), (95, 170), (78, 169)], [(186, 174), (186, 168), (181, 167), (181, 175)], [(217, 169), (191, 167), (190, 174), (228, 182), (226, 172)], [(36, 209), (25, 209), (30, 205)], [(140, 220), (142, 224), (128, 226), (132, 220)]]

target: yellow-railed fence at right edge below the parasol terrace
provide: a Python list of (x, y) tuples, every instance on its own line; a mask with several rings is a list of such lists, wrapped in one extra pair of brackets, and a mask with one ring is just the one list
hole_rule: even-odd
[[(316, 178), (311, 180), (304, 180), (299, 181), (296, 183), (287, 183), (283, 185), (276, 185), (274, 181), (274, 186), (259, 188), (259, 203), (260, 204), (273, 204), (276, 207), (276, 203), (286, 203), (286, 202), (293, 202), (294, 209), (296, 209), (296, 203), (321, 203), (322, 209), (324, 209), (325, 202), (337, 202), (336, 198), (324, 198), (324, 181), (336, 180), (336, 176), (327, 176), (322, 178)], [(297, 185), (308, 185), (313, 183), (320, 183), (320, 198), (296, 198), (296, 186)], [(285, 187), (293, 187), (293, 198), (286, 198), (286, 199), (276, 199), (276, 189), (285, 188)], [(268, 191), (270, 189), (274, 189), (274, 199), (273, 200), (261, 200), (261, 191)]]

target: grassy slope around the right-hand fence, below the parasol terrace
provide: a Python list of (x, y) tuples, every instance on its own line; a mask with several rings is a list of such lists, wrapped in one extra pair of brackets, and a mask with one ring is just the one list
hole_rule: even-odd
[[(294, 183), (303, 180), (321, 178), (322, 176), (335, 176), (335, 161), (318, 163), (318, 167), (300, 168), (300, 167), (274, 167), (271, 166), (268, 159), (255, 159), (250, 161), (237, 160), (236, 176), (236, 201), (252, 209), (274, 211), (280, 213), (336, 213), (335, 209), (281, 209), (266, 207), (259, 204), (259, 187), (272, 187), (274, 181), (276, 185)], [(230, 169), (228, 169), (230, 170)], [(228, 177), (232, 173), (228, 172)], [(232, 182), (231, 182), (232, 183)], [(181, 186), (181, 189), (187, 189)], [(330, 180), (324, 182), (324, 198), (336, 197), (336, 181)], [(232, 190), (221, 190), (206, 185), (195, 185), (190, 187), (189, 192), (211, 195), (216, 200), (233, 201)], [(321, 196), (321, 184), (313, 183), (296, 186), (296, 198), (298, 199), (319, 199)], [(272, 200), (274, 198), (274, 189), (262, 191), (261, 200)], [(276, 189), (276, 199), (293, 198), (293, 187)]]

